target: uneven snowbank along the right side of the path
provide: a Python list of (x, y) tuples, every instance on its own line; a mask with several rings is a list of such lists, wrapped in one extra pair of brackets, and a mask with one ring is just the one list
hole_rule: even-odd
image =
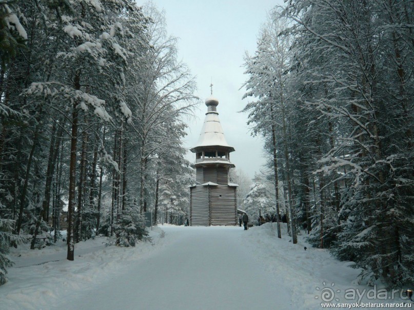
[[(360, 270), (349, 267), (352, 262), (341, 262), (331, 257), (328, 250), (313, 248), (305, 241), (305, 236), (298, 236), (298, 244), (292, 244), (286, 224), (281, 223), (281, 225), (282, 239), (277, 237), (276, 223), (254, 226), (246, 232), (244, 239), (247, 241), (245, 243), (249, 251), (257, 254), (257, 262), (274, 277), (283, 279), (292, 292), (292, 305), (295, 305), (295, 308), (321, 309), (324, 292), (333, 293), (333, 299), (330, 301), (332, 303), (407, 302), (400, 298), (400, 291), (405, 288), (401, 288), (393, 299), (388, 298), (390, 293), (387, 295), (387, 300), (383, 298), (384, 296), (379, 296), (382, 299), (368, 298), (367, 292), (371, 290), (372, 293), (374, 288), (356, 283), (355, 279)], [(375, 290), (378, 293), (381, 288), (376, 287)], [(354, 300), (349, 299), (351, 294), (345, 296), (345, 292), (352, 291), (357, 292)], [(358, 292), (362, 295), (361, 299), (358, 297)], [(352, 307), (352, 309), (359, 308)]]

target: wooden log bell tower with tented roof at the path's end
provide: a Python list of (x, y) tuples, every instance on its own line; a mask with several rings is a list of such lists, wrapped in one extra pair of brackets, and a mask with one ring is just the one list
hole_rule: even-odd
[(235, 225), (237, 184), (229, 183), (230, 152), (216, 107), (219, 101), (206, 99), (207, 113), (195, 153), (196, 185), (190, 187), (190, 225)]

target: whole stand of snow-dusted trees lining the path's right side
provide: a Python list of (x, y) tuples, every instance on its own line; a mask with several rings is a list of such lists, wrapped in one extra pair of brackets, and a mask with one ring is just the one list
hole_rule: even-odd
[(246, 57), (253, 101), (245, 111), (265, 138), (291, 216), (313, 245), (354, 261), (371, 283), (401, 285), (414, 274), (406, 243), (414, 227), (413, 10), (411, 2), (291, 0)]

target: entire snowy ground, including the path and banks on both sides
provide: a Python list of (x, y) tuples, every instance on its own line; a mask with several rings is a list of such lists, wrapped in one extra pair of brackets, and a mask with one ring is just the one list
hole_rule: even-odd
[[(62, 241), (37, 251), (19, 247), (0, 286), (0, 309), (321, 309), (324, 293), (333, 292), (334, 303), (357, 303), (358, 296), (344, 298), (347, 289), (372, 289), (354, 283), (359, 272), (349, 263), (303, 238), (276, 238), (275, 224), (247, 232), (164, 225), (151, 236), (135, 248), (104, 247), (102, 237), (80, 242), (73, 262)], [(364, 293), (359, 302), (406, 302), (396, 295)]]

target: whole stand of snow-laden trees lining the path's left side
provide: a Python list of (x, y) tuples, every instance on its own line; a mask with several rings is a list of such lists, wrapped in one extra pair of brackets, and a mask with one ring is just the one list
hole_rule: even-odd
[(39, 236), (57, 241), (64, 201), (70, 260), (95, 228), (132, 233), (141, 198), (154, 204), (156, 174), (176, 175), (188, 211), (191, 169), (177, 159), (194, 80), (162, 14), (147, 13), (132, 0), (0, 3), (0, 220), (32, 249)]

